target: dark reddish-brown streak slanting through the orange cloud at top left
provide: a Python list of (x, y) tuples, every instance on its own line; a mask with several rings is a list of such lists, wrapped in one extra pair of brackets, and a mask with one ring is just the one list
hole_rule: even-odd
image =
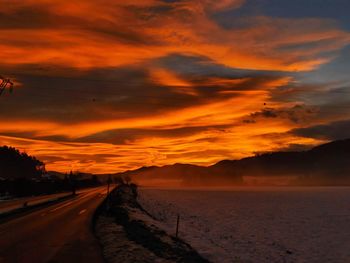
[[(0, 10), (0, 30), (60, 30), (60, 29), (80, 29), (90, 32), (96, 36), (110, 38), (111, 40), (119, 41), (126, 44), (154, 44), (159, 41), (146, 36), (140, 30), (121, 25), (120, 23), (110, 21), (108, 19), (99, 18), (90, 20), (88, 16), (77, 17), (67, 13), (54, 12), (50, 5), (44, 6), (40, 4), (26, 5), (15, 10), (3, 9)], [(78, 31), (77, 31), (78, 34)], [(42, 39), (41, 39), (42, 41)], [(31, 39), (26, 40), (11, 40), (11, 38), (2, 39), (3, 43), (8, 43), (16, 46), (35, 46)], [(46, 47), (50, 44), (50, 39), (46, 41)], [(55, 43), (52, 43), (54, 46)]]

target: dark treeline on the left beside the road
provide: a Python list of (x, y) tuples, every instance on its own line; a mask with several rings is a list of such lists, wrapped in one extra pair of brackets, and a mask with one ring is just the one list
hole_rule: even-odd
[(45, 164), (15, 148), (0, 147), (0, 196), (32, 196), (100, 185), (96, 175), (47, 173)]

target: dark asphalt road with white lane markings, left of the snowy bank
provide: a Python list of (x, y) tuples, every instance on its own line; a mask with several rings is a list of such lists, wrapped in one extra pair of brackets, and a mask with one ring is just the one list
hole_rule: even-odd
[(0, 224), (0, 263), (103, 262), (91, 219), (105, 195), (94, 188)]

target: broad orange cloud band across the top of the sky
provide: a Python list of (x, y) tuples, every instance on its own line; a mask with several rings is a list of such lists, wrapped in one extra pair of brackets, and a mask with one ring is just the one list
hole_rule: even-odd
[[(256, 17), (247, 18), (250, 26), (244, 29), (226, 29), (206, 12), (242, 4), (239, 0), (11, 1), (13, 15), (36, 6), (42, 8), (38, 16), (51, 15), (57, 22), (48, 20), (47, 26), (43, 18), (42, 24), (39, 21), (31, 28), (31, 21), (24, 20), (29, 23), (24, 28), (9, 24), (1, 29), (4, 52), (0, 58), (5, 64), (94, 68), (133, 64), (176, 52), (206, 56), (229, 67), (303, 71), (332, 58), (322, 53), (350, 42), (349, 34), (328, 20)], [(283, 50), (313, 42), (320, 44)]]

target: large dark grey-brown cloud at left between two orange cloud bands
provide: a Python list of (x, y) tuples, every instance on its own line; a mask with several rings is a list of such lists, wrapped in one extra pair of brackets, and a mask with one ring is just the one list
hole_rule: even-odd
[(16, 96), (1, 103), (0, 111), (11, 108), (9, 119), (70, 123), (139, 117), (208, 100), (152, 83), (147, 70), (140, 68), (76, 73), (79, 76), (18, 75), (16, 79), (25, 88), (17, 89)]

